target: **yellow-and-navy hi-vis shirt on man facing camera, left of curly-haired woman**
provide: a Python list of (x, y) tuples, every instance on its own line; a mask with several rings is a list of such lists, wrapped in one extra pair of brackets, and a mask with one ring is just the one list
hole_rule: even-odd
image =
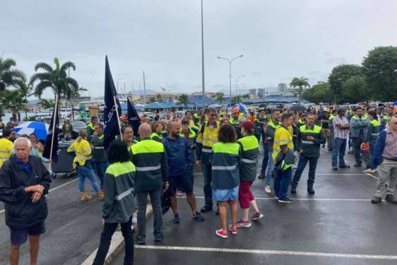
[(208, 163), (212, 153), (212, 146), (218, 142), (218, 130), (220, 123), (215, 122), (213, 127), (208, 125), (208, 122), (202, 124), (196, 139), (196, 154), (197, 160), (202, 160), (203, 163)]

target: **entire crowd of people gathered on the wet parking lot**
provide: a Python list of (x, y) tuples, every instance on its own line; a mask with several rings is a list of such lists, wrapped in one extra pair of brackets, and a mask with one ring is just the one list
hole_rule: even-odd
[[(120, 122), (120, 136), (107, 150), (98, 117), (91, 117), (67, 149), (75, 155), (72, 166), (79, 177), (80, 200), (93, 199), (84, 188), (85, 179), (89, 179), (96, 197), (103, 201), (104, 226), (93, 264), (103, 264), (118, 224), (126, 243), (124, 264), (133, 264), (134, 241), (145, 244), (148, 200), (153, 209), (155, 241), (161, 242), (165, 196), (175, 224), (181, 222), (176, 197), (180, 193), (186, 193), (196, 221), (204, 221), (203, 214), (216, 205), (220, 228), (215, 234), (228, 238), (229, 233), (235, 235), (238, 228), (249, 228), (252, 221), (263, 217), (251, 190), (256, 178), (263, 179), (265, 193), (273, 191), (275, 200), (290, 203), (289, 194), (297, 193), (309, 164), (306, 187), (307, 193), (314, 195), (321, 148), (332, 151), (332, 169), (338, 170), (350, 167), (344, 159), (349, 147), (354, 167), (364, 164), (368, 174), (378, 176), (372, 202), (382, 202), (385, 189), (385, 200), (397, 202), (393, 197), (397, 182), (397, 116), (393, 106), (381, 113), (365, 105), (308, 108), (303, 112), (288, 108), (247, 113), (233, 108), (231, 114), (215, 108), (186, 111), (184, 115), (167, 112), (164, 117), (155, 115), (152, 121), (143, 117), (136, 136), (126, 117)], [(261, 161), (259, 146), (263, 147)], [(48, 193), (51, 177), (39, 155), (42, 148), (34, 134), (15, 140), (12, 129), (3, 129), (0, 201), (5, 202), (6, 224), (11, 230), (11, 265), (18, 264), (19, 247), (28, 235), (31, 264), (36, 264), (39, 236), (45, 231), (47, 206), (43, 195)], [(204, 205), (200, 210), (193, 192), (195, 167), (201, 169), (204, 179)], [(138, 224), (135, 240), (131, 228), (134, 212)]]

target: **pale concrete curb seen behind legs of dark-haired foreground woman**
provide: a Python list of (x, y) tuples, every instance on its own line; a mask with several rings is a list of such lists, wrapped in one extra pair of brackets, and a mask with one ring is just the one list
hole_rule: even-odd
[[(148, 205), (146, 209), (146, 220), (152, 215), (153, 209), (152, 205)], [(136, 231), (136, 224), (134, 225), (134, 231)], [(105, 258), (105, 263), (106, 265), (109, 265), (110, 262), (119, 254), (124, 247), (124, 238), (122, 235), (121, 231), (116, 231), (113, 236), (112, 236), (112, 243), (110, 243), (109, 251), (108, 254), (106, 255)], [(93, 264), (93, 259), (95, 259), (96, 252), (98, 249), (96, 249), (94, 252), (89, 255), (89, 257), (81, 264), (81, 265), (92, 265)]]

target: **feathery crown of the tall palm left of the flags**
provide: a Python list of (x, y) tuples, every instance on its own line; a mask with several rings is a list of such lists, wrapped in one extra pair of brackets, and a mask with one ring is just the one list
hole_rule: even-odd
[[(66, 62), (60, 65), (58, 58), (54, 58), (56, 68), (53, 69), (47, 63), (37, 63), (34, 66), (36, 73), (30, 78), (30, 84), (39, 82), (34, 87), (34, 96), (41, 98), (44, 90), (50, 88), (54, 95), (58, 94), (60, 98), (68, 98), (78, 93), (79, 84), (71, 77), (67, 76), (67, 70), (72, 68), (76, 70), (76, 66), (72, 62)], [(37, 72), (37, 70), (44, 70), (44, 72)]]

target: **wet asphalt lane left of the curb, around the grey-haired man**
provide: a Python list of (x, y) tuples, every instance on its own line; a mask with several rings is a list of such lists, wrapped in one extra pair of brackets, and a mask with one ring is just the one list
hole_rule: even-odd
[[(41, 237), (40, 265), (79, 265), (96, 250), (99, 243), (101, 204), (96, 198), (90, 202), (79, 201), (77, 177), (53, 179), (48, 201), (46, 233)], [(62, 186), (65, 184), (64, 186)], [(57, 188), (58, 187), (58, 188)], [(86, 190), (94, 195), (89, 182)], [(1, 203), (1, 208), (4, 209)], [(0, 264), (8, 264), (10, 233), (0, 213)], [(20, 250), (20, 265), (29, 264), (28, 244)]]

